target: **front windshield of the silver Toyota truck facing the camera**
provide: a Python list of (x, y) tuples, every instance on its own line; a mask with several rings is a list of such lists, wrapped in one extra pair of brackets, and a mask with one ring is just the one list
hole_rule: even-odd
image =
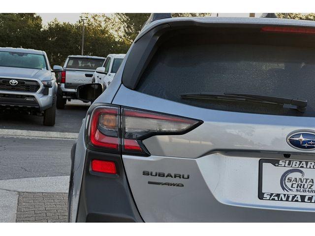
[(43, 55), (18, 52), (0, 52), (0, 66), (47, 69)]

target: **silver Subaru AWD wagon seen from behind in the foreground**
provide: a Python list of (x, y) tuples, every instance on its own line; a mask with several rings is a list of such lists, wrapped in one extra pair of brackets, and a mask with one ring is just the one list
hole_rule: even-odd
[(71, 152), (71, 222), (315, 221), (315, 23), (152, 14)]

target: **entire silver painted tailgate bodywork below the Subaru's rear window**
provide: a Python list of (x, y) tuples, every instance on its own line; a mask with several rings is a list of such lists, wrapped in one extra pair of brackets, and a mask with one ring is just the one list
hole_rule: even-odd
[[(296, 150), (286, 143), (287, 135), (294, 130), (315, 130), (314, 118), (203, 109), (140, 93), (124, 85), (113, 103), (204, 121), (184, 135), (144, 140), (150, 157), (123, 155), (130, 188), (145, 221), (285, 221), (288, 213), (283, 210), (294, 211), (289, 213), (294, 216), (302, 211), (315, 211), (312, 203), (258, 199), (259, 159), (285, 159), (284, 153), (291, 153), (292, 160), (314, 160), (315, 151)], [(143, 176), (143, 171), (190, 177), (179, 180)], [(185, 186), (150, 185), (148, 181)], [(235, 217), (236, 213), (242, 217)]]

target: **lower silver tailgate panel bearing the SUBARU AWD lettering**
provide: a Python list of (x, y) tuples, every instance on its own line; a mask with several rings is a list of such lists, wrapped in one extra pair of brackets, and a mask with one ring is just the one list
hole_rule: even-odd
[[(197, 159), (124, 155), (131, 192), (144, 221), (314, 221), (313, 203), (258, 199), (257, 154), (228, 154), (231, 155), (214, 153)], [(144, 170), (189, 174), (189, 179), (143, 176)], [(152, 185), (148, 181), (182, 183), (184, 187)]]

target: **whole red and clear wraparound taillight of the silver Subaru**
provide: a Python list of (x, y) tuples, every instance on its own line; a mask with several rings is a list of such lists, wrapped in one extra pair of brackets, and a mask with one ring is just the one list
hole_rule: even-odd
[(89, 137), (96, 148), (148, 155), (142, 140), (154, 135), (185, 134), (202, 121), (137, 109), (100, 106), (92, 113)]

